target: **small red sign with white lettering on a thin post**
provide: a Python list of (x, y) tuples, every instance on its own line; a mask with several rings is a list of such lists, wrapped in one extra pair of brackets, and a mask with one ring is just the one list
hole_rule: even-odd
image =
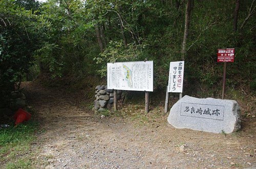
[(218, 49), (217, 62), (234, 62), (234, 48)]

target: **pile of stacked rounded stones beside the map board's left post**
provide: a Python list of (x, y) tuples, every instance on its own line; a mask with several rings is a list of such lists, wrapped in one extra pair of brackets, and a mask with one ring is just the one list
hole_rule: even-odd
[[(117, 100), (121, 99), (122, 91), (117, 91)], [(114, 90), (107, 89), (106, 85), (98, 85), (95, 88), (95, 98), (93, 110), (101, 111), (105, 108), (112, 109), (114, 103)]]

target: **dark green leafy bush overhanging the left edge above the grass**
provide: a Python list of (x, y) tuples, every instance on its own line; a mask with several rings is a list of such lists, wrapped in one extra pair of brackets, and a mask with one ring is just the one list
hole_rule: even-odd
[[(25, 1), (24, 1), (25, 2)], [(0, 93), (6, 98), (33, 65), (42, 31), (37, 16), (16, 1), (0, 2)]]

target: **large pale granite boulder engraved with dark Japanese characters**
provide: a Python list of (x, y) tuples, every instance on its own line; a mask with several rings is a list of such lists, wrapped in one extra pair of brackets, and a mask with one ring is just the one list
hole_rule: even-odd
[(184, 96), (170, 109), (168, 123), (176, 128), (231, 133), (241, 128), (237, 101)]

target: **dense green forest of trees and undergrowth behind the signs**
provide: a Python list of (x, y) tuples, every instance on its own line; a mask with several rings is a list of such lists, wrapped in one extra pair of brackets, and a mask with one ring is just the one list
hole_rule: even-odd
[(221, 98), (219, 48), (235, 48), (228, 89), (254, 95), (255, 8), (255, 0), (2, 0), (0, 106), (23, 80), (104, 81), (106, 63), (145, 59), (154, 61), (155, 90), (165, 90), (169, 62), (184, 60), (184, 93)]

